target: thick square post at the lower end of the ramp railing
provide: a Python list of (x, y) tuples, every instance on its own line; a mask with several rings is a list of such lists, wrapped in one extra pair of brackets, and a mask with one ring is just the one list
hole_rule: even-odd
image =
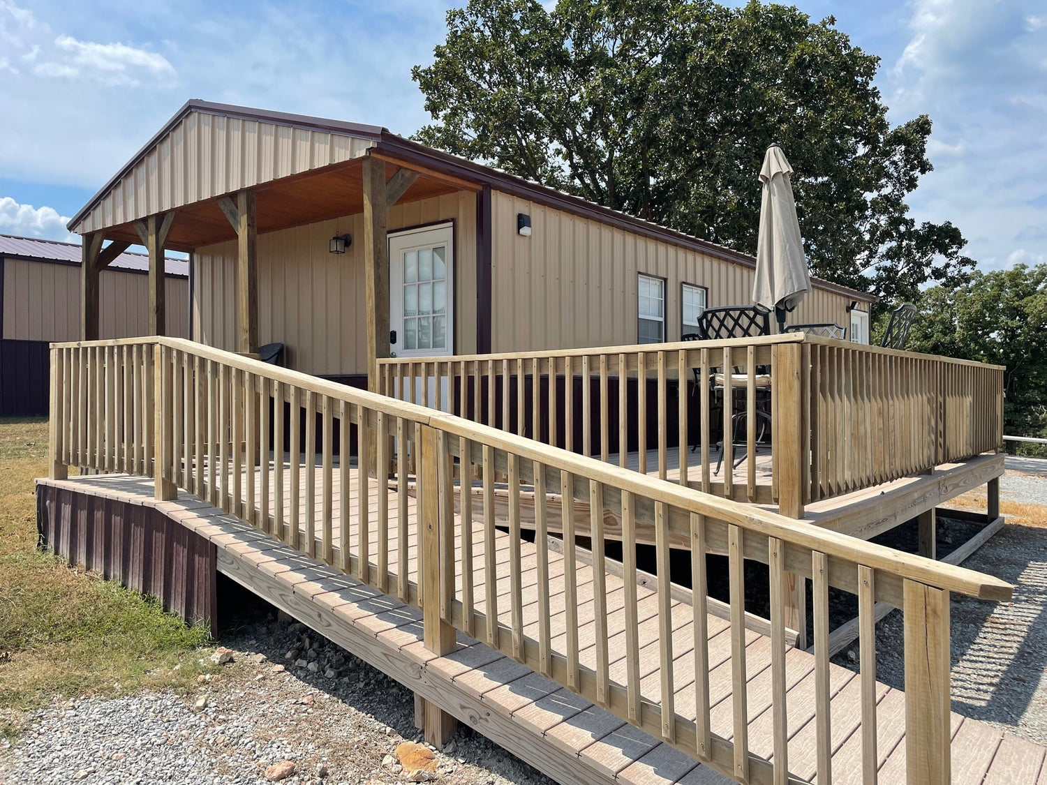
[(949, 591), (905, 582), (906, 782), (952, 782)]

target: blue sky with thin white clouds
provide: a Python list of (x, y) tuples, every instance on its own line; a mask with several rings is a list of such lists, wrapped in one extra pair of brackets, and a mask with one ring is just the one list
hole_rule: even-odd
[[(892, 122), (931, 116), (912, 215), (983, 270), (1047, 262), (1047, 0), (796, 4), (882, 59)], [(68, 217), (188, 98), (414, 133), (410, 67), (449, 5), (0, 0), (0, 232), (76, 240)]]

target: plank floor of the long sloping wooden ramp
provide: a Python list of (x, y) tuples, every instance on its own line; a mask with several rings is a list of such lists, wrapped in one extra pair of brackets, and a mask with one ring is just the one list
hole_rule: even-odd
[[(270, 468), (271, 471), (271, 468)], [(329, 542), (342, 542), (346, 537), (360, 553), (359, 539), (359, 477), (354, 468), (348, 469), (352, 489), (346, 521), (338, 519), (342, 487), (339, 469), (332, 478), (333, 496), (326, 507), (321, 484), (315, 472), (315, 510), (331, 512)], [(308, 467), (295, 472), (308, 488)], [(246, 488), (247, 476), (241, 483)], [(410, 591), (418, 590), (418, 532), (411, 525), (403, 543), (395, 526), (389, 528), (387, 551), (389, 595), (341, 575), (302, 551), (319, 554), (324, 528), (317, 519), (310, 547), (303, 525), (299, 550), (265, 535), (241, 516), (221, 510), (180, 492), (174, 501), (155, 501), (153, 483), (126, 475), (95, 475), (68, 480), (40, 480), (80, 493), (117, 498), (133, 503), (155, 507), (173, 520), (206, 536), (218, 548), (218, 568), (277, 607), (294, 614), (306, 624), (349, 648), (354, 654), (385, 671), (427, 700), (432, 701), (459, 720), (511, 748), (554, 779), (574, 782), (631, 783), (717, 783), (727, 782), (721, 775), (699, 765), (696, 760), (680, 753), (617, 716), (599, 709), (529, 668), (462, 633), (458, 634), (456, 650), (439, 657), (422, 644), (421, 612), (404, 605), (399, 592), (397, 575), (405, 571)], [(290, 470), (285, 483), (290, 484)], [(230, 483), (230, 485), (232, 485)], [(362, 484), (367, 488), (369, 518), (379, 519), (377, 481)], [(255, 487), (258, 487), (255, 485)], [(241, 498), (243, 494), (237, 494)], [(274, 496), (270, 494), (270, 510)], [(389, 483), (388, 509), (396, 511), (401, 503), (415, 520), (414, 496), (401, 499), (395, 483)], [(321, 507), (324, 506), (324, 507)], [(483, 506), (481, 506), (482, 508)], [(290, 519), (290, 511), (285, 520)], [(481, 513), (482, 515), (482, 513)], [(497, 517), (497, 514), (496, 514)], [(475, 516), (474, 520), (480, 520)], [(455, 516), (455, 523), (461, 519)], [(500, 522), (499, 522), (500, 525)], [(365, 550), (374, 559), (378, 554), (377, 526), (371, 525), (371, 545)], [(455, 526), (455, 547), (461, 551), (462, 526)], [(535, 546), (526, 541), (511, 543), (508, 534), (497, 531), (493, 559), (485, 553), (484, 528), (473, 530), (473, 564), (477, 570), (485, 563), (496, 565), (497, 595), (489, 598), (484, 590), (484, 577), (473, 576), (475, 609), (497, 614), (497, 607), (509, 606), (510, 554), (518, 548), (522, 567), (524, 631), (528, 638), (537, 636), (538, 596), (537, 557)], [(285, 541), (290, 533), (285, 532)], [(463, 560), (455, 559), (458, 565)], [(379, 565), (373, 562), (372, 569)], [(555, 552), (549, 555), (549, 583), (552, 645), (556, 652), (565, 652), (567, 609), (564, 606), (564, 561)], [(597, 635), (594, 614), (594, 580), (591, 566), (579, 559), (576, 565), (580, 666), (584, 670), (597, 667)], [(463, 584), (461, 570), (455, 576)], [(641, 635), (639, 663), (620, 656), (626, 650), (625, 585), (621, 578), (607, 574), (605, 580), (607, 650), (610, 652), (612, 683), (625, 685), (630, 666), (638, 666), (641, 694), (645, 701), (661, 700), (663, 674), (659, 666), (659, 624), (656, 592), (637, 587), (637, 610)], [(505, 611), (503, 611), (505, 612)], [(673, 631), (673, 686), (676, 716), (694, 720), (695, 665), (694, 613), (684, 601), (673, 600), (671, 607)], [(710, 614), (708, 676), (712, 732), (731, 739), (734, 731), (731, 667), (731, 629), (721, 618)], [(772, 655), (768, 636), (749, 629), (745, 633), (744, 678), (748, 682), (748, 744), (749, 749), (766, 760), (773, 758), (772, 730)], [(789, 649), (786, 655), (788, 761), (790, 776), (812, 782), (816, 776), (815, 726), (815, 658), (800, 650)], [(860, 783), (861, 772), (861, 681), (852, 671), (829, 666), (831, 693), (831, 770), (834, 783)], [(877, 685), (877, 762), (879, 781), (904, 781), (906, 777), (904, 743), (905, 696), (891, 688)], [(690, 709), (689, 709), (690, 708)], [(975, 720), (953, 714), (953, 782), (955, 783), (1043, 783), (1045, 749)], [(1039, 778), (1039, 779), (1038, 779)]]

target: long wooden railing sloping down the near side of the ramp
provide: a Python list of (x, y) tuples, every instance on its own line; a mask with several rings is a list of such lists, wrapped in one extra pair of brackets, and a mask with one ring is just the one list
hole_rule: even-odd
[[(908, 781), (950, 781), (950, 592), (1006, 600), (1011, 587), (1002, 581), (191, 341), (54, 344), (51, 360), (52, 475), (72, 465), (153, 476), (158, 498), (181, 487), (421, 608), (425, 645), (436, 653), (453, 648), (455, 629), (474, 635), (741, 782), (788, 781), (786, 573), (812, 580), (816, 690), (803, 710), (814, 716), (820, 783), (831, 780), (836, 752), (829, 587), (857, 596), (865, 782), (875, 782), (877, 767), (874, 604), (904, 607)], [(377, 476), (369, 476), (371, 466)], [(495, 474), (508, 483), (499, 509)], [(528, 566), (525, 498), (536, 530)], [(576, 506), (589, 510), (592, 552), (576, 544)], [(624, 562), (604, 555), (605, 513), (622, 521)], [(554, 516), (564, 533), (562, 576), (550, 571)], [(506, 529), (509, 558), (499, 561)], [(638, 615), (641, 531), (652, 533), (656, 552), (650, 619)], [(669, 579), (673, 538), (693, 554), (693, 614), (682, 648), (681, 628), (673, 634), (673, 598), (683, 590)], [(731, 646), (716, 659), (706, 553), (726, 554), (730, 574)], [(771, 706), (773, 744), (760, 754), (749, 736), (757, 698), (748, 692), (745, 560), (765, 564), (771, 585), (770, 697), (758, 699)], [(526, 591), (525, 569), (536, 570)], [(625, 593), (611, 602), (605, 589), (614, 580)], [(655, 637), (645, 638), (654, 624)], [(693, 667), (681, 670), (687, 658)], [(623, 667), (621, 677), (611, 675)], [(725, 730), (713, 722), (713, 705), (716, 716), (723, 706), (710, 678), (728, 667), (723, 700), (733, 719)]]

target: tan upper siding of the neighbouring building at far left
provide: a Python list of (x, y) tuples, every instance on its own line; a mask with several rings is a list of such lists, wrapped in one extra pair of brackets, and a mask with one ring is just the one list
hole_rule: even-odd
[[(3, 337), (72, 341), (80, 338), (80, 267), (4, 260)], [(99, 338), (148, 331), (149, 276), (104, 270), (98, 278)], [(166, 281), (168, 335), (188, 337), (188, 282)]]

